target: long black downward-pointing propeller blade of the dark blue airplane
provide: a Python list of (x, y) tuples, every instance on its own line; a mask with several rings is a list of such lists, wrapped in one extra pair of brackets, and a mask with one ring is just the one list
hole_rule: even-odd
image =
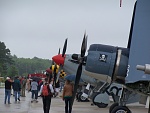
[(77, 69), (77, 73), (76, 73), (76, 79), (75, 79), (75, 84), (74, 84), (74, 91), (73, 91), (73, 96), (72, 96), (72, 106), (73, 106), (73, 102), (77, 93), (77, 89), (78, 89), (78, 84), (81, 78), (81, 73), (82, 73), (82, 63), (79, 64), (78, 69)]

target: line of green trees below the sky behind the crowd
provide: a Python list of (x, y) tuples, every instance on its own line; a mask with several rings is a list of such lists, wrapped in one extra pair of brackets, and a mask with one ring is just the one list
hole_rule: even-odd
[(34, 58), (18, 58), (4, 42), (0, 41), (0, 76), (27, 76), (31, 73), (42, 73), (51, 65), (51, 60)]

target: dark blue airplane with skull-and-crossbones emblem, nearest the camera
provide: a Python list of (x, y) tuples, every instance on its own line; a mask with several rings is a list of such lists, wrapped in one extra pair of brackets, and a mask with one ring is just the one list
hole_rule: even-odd
[(72, 105), (85, 61), (84, 73), (87, 76), (108, 84), (118, 83), (123, 86), (119, 101), (110, 106), (109, 113), (131, 113), (126, 104), (130, 101), (130, 96), (136, 94), (141, 96), (136, 100), (140, 99), (141, 103), (146, 103), (146, 98), (150, 96), (149, 6), (149, 0), (135, 2), (127, 48), (92, 44), (88, 55), (85, 56), (87, 38), (84, 36), (81, 54), (76, 55), (76, 58), (72, 57), (79, 61)]

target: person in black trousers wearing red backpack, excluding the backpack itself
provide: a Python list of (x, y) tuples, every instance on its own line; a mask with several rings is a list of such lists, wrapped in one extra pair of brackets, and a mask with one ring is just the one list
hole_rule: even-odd
[[(49, 90), (48, 96), (43, 96), (43, 94), (42, 94), (42, 90), (43, 90), (44, 85), (47, 85), (48, 86), (47, 88), (49, 88), (48, 89)], [(49, 113), (50, 105), (51, 105), (51, 98), (52, 98), (53, 93), (54, 93), (54, 89), (53, 89), (52, 84), (50, 84), (48, 82), (48, 78), (45, 78), (45, 83), (40, 88), (40, 95), (42, 96), (44, 113)]]

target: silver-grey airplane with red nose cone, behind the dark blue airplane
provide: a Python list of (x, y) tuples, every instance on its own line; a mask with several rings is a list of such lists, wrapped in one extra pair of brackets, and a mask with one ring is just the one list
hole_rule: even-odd
[[(65, 43), (64, 43), (65, 49), (66, 49), (66, 45), (67, 45), (67, 39), (65, 40)], [(64, 50), (63, 48), (63, 51), (66, 51), (66, 50)], [(78, 64), (79, 64), (78, 60), (75, 60), (76, 56), (78, 55), (65, 54), (65, 52), (62, 52), (62, 54), (60, 54), (60, 49), (59, 49), (58, 55), (55, 55), (52, 57), (53, 65), (51, 66), (51, 69), (57, 70), (57, 73), (63, 69), (63, 72), (65, 72), (66, 75), (70, 75), (70, 74), (75, 75), (76, 70), (78, 68)], [(82, 65), (83, 69), (85, 68), (85, 64), (86, 62), (84, 62), (84, 64)], [(60, 69), (58, 69), (59, 68), (58, 65), (61, 66)], [(57, 74), (57, 79), (58, 77), (59, 75)], [(115, 84), (115, 86), (114, 85), (110, 86), (109, 84), (105, 82), (99, 81), (85, 74), (82, 74), (81, 78), (85, 82), (85, 84), (78, 86), (78, 92), (76, 94), (78, 101), (85, 102), (87, 101), (87, 98), (90, 98), (93, 102), (92, 105), (94, 104), (98, 106), (99, 108), (104, 108), (104, 107), (107, 107), (108, 104), (110, 103), (109, 96), (113, 96), (113, 101), (118, 100), (119, 98), (118, 94), (119, 94), (119, 91), (121, 90), (121, 86), (119, 86), (119, 84), (118, 85)], [(87, 86), (85, 87), (85, 85)], [(108, 85), (109, 85), (109, 88), (106, 89)]]

